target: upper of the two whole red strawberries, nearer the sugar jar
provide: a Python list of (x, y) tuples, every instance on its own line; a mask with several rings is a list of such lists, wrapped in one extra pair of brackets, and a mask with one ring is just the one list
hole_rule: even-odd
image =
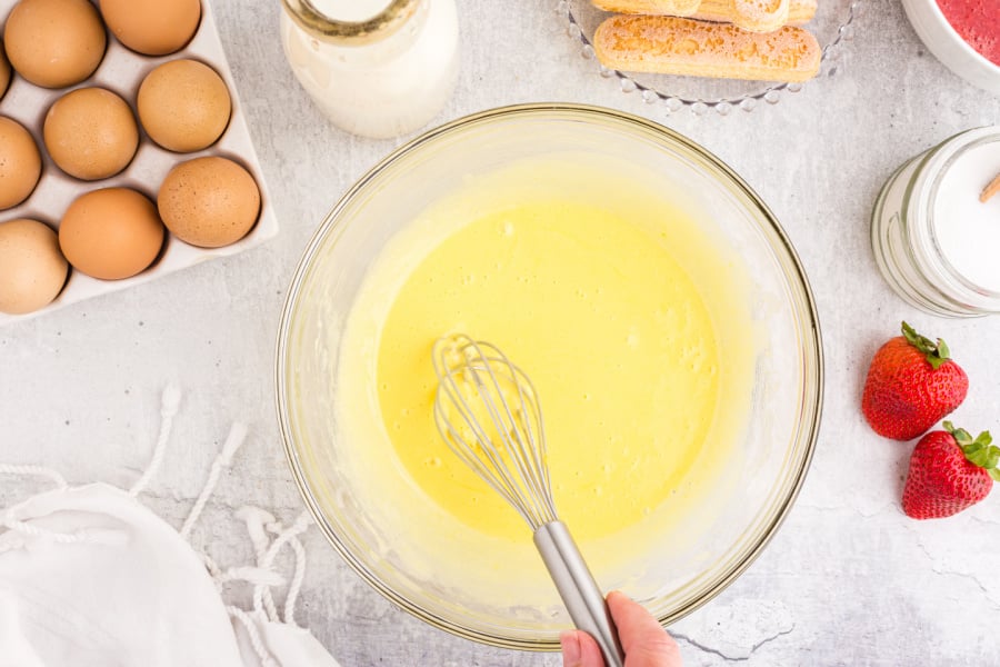
[(943, 340), (924, 338), (907, 322), (902, 332), (872, 358), (861, 411), (880, 436), (912, 440), (959, 407), (969, 378)]

